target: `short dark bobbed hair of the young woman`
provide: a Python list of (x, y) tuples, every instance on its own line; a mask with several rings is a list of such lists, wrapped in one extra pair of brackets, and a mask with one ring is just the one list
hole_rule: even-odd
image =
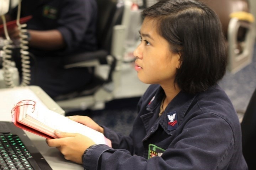
[(158, 33), (181, 56), (175, 82), (190, 94), (217, 84), (226, 71), (227, 53), (216, 13), (197, 0), (160, 0), (143, 11)]

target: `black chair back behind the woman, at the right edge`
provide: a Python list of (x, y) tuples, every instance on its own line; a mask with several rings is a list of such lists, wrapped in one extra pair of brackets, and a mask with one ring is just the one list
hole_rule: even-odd
[(241, 123), (242, 149), (249, 170), (256, 169), (256, 89)]

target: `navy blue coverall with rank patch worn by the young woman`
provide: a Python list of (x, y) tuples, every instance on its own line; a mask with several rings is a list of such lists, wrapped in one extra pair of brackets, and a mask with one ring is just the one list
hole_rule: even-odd
[(112, 147), (96, 145), (83, 157), (86, 170), (246, 170), (238, 116), (217, 85), (181, 91), (159, 117), (164, 91), (150, 85), (138, 103), (129, 136), (104, 127)]

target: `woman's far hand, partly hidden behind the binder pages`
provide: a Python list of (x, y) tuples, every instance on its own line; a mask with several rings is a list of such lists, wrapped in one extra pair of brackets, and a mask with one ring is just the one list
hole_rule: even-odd
[(88, 116), (76, 115), (76, 116), (69, 116), (68, 118), (78, 123), (81, 123), (85, 126), (88, 126), (89, 128), (94, 129), (98, 132), (101, 132), (102, 134), (104, 133), (104, 129)]

